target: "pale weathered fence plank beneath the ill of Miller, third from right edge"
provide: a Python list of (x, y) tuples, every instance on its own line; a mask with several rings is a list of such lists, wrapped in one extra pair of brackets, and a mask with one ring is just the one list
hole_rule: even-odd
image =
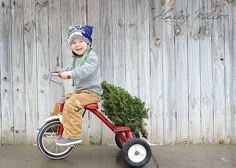
[[(203, 12), (211, 10), (211, 1), (202, 0)], [(201, 132), (203, 143), (213, 143), (213, 77), (211, 53), (211, 23), (208, 19), (200, 21), (200, 69), (201, 69)]]

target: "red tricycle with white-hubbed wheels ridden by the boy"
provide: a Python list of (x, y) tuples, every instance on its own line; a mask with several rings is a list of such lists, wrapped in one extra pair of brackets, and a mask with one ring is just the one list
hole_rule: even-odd
[[(62, 112), (65, 103), (65, 89), (61, 81), (54, 77), (60, 77), (59, 72), (50, 73), (50, 81), (61, 86), (62, 97), (60, 100), (60, 114), (49, 116), (45, 119), (45, 124), (41, 127), (37, 136), (37, 146), (43, 155), (50, 159), (63, 159), (73, 152), (76, 145), (58, 146), (56, 141), (62, 137), (63, 124), (61, 122)], [(115, 133), (116, 145), (122, 150), (124, 160), (132, 167), (142, 167), (149, 162), (152, 157), (152, 151), (149, 144), (141, 139), (136, 138), (127, 126), (115, 126), (101, 112), (98, 111), (98, 104), (89, 104), (85, 107), (86, 110), (95, 114), (104, 124), (106, 124)]]

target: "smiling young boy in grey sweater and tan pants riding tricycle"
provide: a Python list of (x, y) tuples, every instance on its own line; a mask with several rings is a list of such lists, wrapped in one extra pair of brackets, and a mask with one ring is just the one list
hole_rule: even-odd
[(74, 26), (69, 30), (68, 43), (73, 54), (70, 71), (61, 73), (61, 78), (71, 76), (75, 92), (67, 94), (63, 109), (63, 137), (57, 145), (68, 146), (81, 143), (82, 115), (84, 106), (101, 100), (102, 78), (99, 72), (98, 56), (92, 50), (93, 27)]

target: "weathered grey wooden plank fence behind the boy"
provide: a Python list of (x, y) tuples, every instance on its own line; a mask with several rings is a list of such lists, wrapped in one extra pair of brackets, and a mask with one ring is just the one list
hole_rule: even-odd
[[(85, 23), (103, 79), (150, 108), (150, 142), (236, 142), (235, 0), (1, 0), (0, 144), (35, 143), (60, 95), (48, 72), (70, 65), (68, 28)], [(83, 130), (114, 143), (90, 113)]]

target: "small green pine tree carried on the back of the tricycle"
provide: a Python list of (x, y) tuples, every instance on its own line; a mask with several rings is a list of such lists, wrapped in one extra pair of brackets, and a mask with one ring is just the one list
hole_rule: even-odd
[(116, 125), (129, 126), (133, 133), (142, 133), (147, 137), (144, 119), (148, 118), (148, 109), (139, 98), (131, 96), (121, 87), (102, 82), (102, 112)]

